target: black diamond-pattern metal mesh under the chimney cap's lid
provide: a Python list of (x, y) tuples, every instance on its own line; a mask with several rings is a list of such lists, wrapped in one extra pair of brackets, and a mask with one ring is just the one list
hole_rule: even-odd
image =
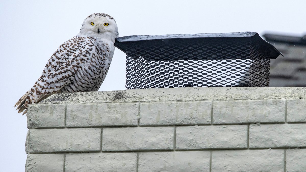
[(126, 88), (268, 87), (270, 57), (257, 41), (155, 41), (126, 49)]

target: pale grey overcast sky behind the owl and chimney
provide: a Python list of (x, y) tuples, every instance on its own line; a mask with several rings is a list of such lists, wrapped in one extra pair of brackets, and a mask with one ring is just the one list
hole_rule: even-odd
[[(119, 36), (266, 32), (301, 36), (306, 1), (5, 1), (0, 2), (0, 169), (24, 171), (26, 117), (14, 103), (41, 75), (53, 52), (92, 13), (115, 18)], [(125, 89), (125, 54), (116, 49), (99, 91)]]

